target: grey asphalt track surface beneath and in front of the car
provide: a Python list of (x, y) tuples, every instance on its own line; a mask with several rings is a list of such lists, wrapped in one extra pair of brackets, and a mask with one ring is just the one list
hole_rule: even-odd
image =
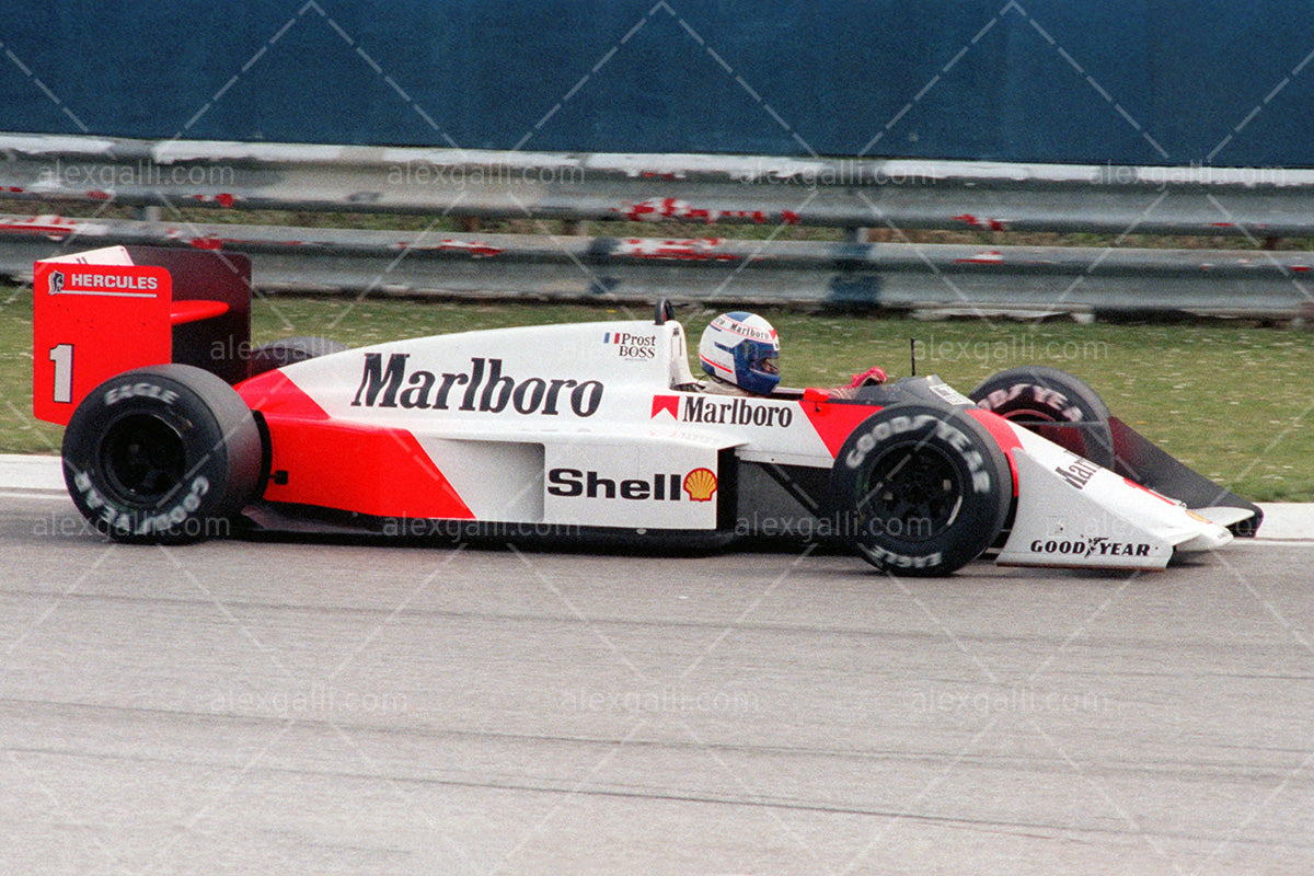
[(0, 493), (3, 873), (1314, 872), (1314, 541), (110, 545)]

